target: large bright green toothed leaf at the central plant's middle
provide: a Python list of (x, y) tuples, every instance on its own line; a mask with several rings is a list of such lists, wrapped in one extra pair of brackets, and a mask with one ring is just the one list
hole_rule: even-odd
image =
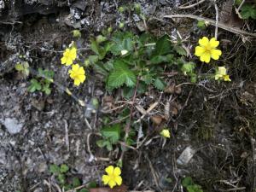
[(134, 87), (136, 81), (135, 74), (126, 66), (125, 62), (118, 60), (113, 64), (113, 72), (108, 76), (107, 86), (110, 90), (119, 88), (123, 84)]

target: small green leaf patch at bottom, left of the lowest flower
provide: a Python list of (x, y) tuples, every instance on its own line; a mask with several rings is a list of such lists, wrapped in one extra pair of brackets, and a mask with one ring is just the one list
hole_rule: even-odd
[[(55, 164), (52, 164), (49, 166), (49, 172), (53, 174), (58, 184), (61, 186), (64, 191), (75, 189), (81, 186), (81, 180), (79, 177), (70, 177), (69, 174), (69, 167), (66, 164), (62, 164), (61, 166), (57, 166)], [(87, 188), (78, 189), (77, 192), (89, 192), (88, 189), (90, 188), (96, 188), (96, 183), (91, 182), (87, 185)]]

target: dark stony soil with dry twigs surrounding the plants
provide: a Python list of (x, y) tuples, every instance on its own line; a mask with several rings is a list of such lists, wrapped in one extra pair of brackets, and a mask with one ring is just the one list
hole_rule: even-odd
[[(183, 44), (192, 55), (198, 38), (207, 33), (214, 35), (212, 26), (204, 32), (196, 30), (195, 20), (161, 19), (164, 15), (186, 13), (214, 19), (212, 4), (178, 9), (187, 1), (133, 2), (140, 3), (143, 14), (150, 18), (150, 32), (166, 33), (174, 39), (178, 37), (177, 31), (180, 32), (185, 39)], [(222, 1), (217, 2), (222, 9)], [(118, 12), (119, 6), (129, 3), (125, 0), (0, 0), (0, 191), (58, 191), (49, 165), (62, 163), (70, 167), (71, 176), (81, 178), (83, 183), (96, 181), (102, 186), (104, 168), (117, 162), (121, 154), (118, 148), (108, 153), (96, 146), (96, 133), (106, 116), (102, 108), (105, 109), (104, 101), (110, 95), (93, 71), (88, 72), (85, 84), (74, 88), (67, 69), (61, 67), (61, 51), (73, 40), (73, 29), (82, 32), (80, 43), (84, 55), (90, 54), (90, 36), (100, 34), (108, 26), (117, 29), (121, 20), (125, 20), (124, 30), (139, 33), (140, 17)], [(244, 29), (255, 32), (255, 24)], [(209, 192), (256, 189), (255, 39), (247, 41), (221, 29), (218, 33), (223, 49), (228, 52), (219, 62), (230, 67), (230, 84), (212, 80), (182, 84), (189, 81), (179, 74), (167, 77), (166, 82), (182, 84), (180, 93), (170, 95), (152, 89), (137, 98), (137, 103), (147, 109), (161, 95), (157, 108), (138, 125), (138, 130), (142, 126), (147, 129), (146, 141), (140, 148), (125, 153), (122, 177), (129, 189), (185, 191), (181, 184), (183, 177), (192, 177), (203, 191)], [(70, 88), (87, 104), (91, 98), (97, 98), (101, 107), (96, 113), (88, 113), (88, 108), (79, 106), (55, 86), (49, 96), (28, 92), (31, 76), (22, 79), (14, 68), (20, 61), (19, 55), (26, 55), (32, 68), (53, 70), (56, 82)], [(118, 91), (112, 96), (113, 101), (120, 100)], [(165, 113), (170, 99), (178, 110), (166, 122), (171, 127), (172, 138), (165, 140), (152, 133), (154, 125), (150, 116)], [(122, 110), (107, 115), (116, 120)], [(140, 116), (136, 112), (134, 119)], [(183, 157), (186, 150), (190, 150), (191, 158), (183, 162), (188, 159)], [(177, 163), (181, 159), (182, 163)]]

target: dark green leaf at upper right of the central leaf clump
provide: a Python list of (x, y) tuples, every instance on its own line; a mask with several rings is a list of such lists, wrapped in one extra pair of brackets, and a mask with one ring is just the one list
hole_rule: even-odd
[(166, 55), (172, 51), (172, 44), (167, 35), (164, 35), (155, 44), (153, 55)]

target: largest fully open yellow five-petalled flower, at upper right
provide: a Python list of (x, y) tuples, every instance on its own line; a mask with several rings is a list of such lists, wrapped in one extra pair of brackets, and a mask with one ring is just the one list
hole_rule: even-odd
[(195, 47), (195, 55), (200, 57), (202, 62), (210, 62), (211, 58), (213, 60), (218, 60), (219, 56), (222, 54), (221, 50), (216, 49), (219, 42), (215, 38), (210, 40), (207, 37), (199, 39), (200, 46)]

